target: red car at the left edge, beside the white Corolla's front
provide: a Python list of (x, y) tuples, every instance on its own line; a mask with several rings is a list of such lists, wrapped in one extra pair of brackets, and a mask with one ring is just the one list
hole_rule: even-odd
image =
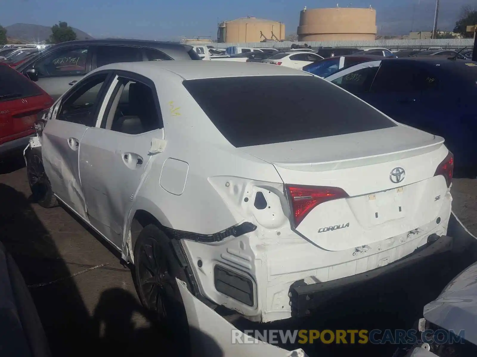
[(0, 157), (24, 149), (35, 134), (37, 115), (53, 99), (30, 79), (0, 63)]

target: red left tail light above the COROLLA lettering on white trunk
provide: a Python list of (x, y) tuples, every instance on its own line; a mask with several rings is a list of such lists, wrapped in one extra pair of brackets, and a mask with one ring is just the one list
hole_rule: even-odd
[(294, 227), (298, 227), (303, 218), (320, 203), (332, 199), (349, 197), (339, 187), (286, 185)]

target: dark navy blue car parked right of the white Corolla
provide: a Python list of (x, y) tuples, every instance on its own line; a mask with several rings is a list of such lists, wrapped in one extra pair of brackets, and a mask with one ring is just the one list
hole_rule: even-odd
[(455, 174), (477, 177), (477, 62), (423, 56), (366, 61), (328, 76), (396, 121), (446, 139)]

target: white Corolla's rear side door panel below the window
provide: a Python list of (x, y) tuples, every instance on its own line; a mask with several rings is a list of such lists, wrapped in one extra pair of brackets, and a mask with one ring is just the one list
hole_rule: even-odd
[(81, 141), (80, 175), (88, 218), (117, 248), (123, 246), (124, 220), (153, 159), (151, 141), (163, 135), (162, 129), (130, 135), (90, 128)]

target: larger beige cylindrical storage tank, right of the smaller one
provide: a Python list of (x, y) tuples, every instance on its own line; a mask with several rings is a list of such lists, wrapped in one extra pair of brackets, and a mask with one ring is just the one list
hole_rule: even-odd
[(300, 12), (299, 41), (374, 40), (376, 10), (310, 9)]

